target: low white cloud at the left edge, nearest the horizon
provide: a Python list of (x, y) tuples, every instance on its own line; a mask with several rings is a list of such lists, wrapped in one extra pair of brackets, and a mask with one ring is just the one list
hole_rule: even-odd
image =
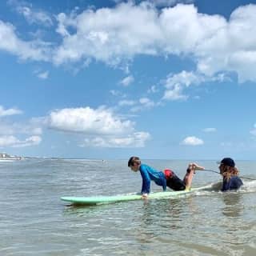
[(13, 135), (0, 136), (0, 147), (25, 147), (40, 144), (42, 138), (39, 136), (31, 136), (25, 140), (19, 140)]

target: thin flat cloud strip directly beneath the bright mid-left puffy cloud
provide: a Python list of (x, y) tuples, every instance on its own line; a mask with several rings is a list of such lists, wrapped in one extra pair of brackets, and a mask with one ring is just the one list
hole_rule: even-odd
[(129, 134), (126, 137), (116, 137), (116, 138), (86, 138), (85, 141), (80, 146), (94, 146), (94, 147), (144, 147), (145, 142), (150, 139), (150, 134), (146, 132), (136, 132)]

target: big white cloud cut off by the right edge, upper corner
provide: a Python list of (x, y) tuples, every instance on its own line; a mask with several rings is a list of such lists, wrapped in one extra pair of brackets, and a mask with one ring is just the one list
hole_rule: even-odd
[[(239, 82), (255, 81), (256, 64), (255, 5), (238, 7), (212, 38), (198, 46), (198, 70), (214, 74), (218, 70), (238, 73)], [(205, 52), (206, 54), (203, 54)]]

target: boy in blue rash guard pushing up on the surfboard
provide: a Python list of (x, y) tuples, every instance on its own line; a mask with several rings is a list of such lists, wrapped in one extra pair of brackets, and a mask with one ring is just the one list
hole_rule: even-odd
[(202, 166), (198, 166), (197, 163), (190, 163), (187, 167), (185, 177), (183, 180), (178, 178), (174, 171), (166, 169), (164, 172), (155, 170), (154, 168), (142, 164), (140, 158), (131, 157), (128, 161), (128, 167), (134, 172), (140, 171), (142, 175), (142, 198), (147, 198), (150, 194), (150, 181), (154, 181), (158, 186), (162, 186), (162, 190), (166, 191), (166, 186), (170, 189), (178, 190), (189, 190), (195, 170), (204, 170)]

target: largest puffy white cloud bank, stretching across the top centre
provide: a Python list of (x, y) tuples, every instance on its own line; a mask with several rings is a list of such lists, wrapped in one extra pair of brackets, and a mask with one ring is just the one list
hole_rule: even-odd
[[(194, 6), (178, 5), (158, 11), (148, 2), (85, 10), (72, 18), (59, 14), (63, 43), (55, 62), (92, 56), (118, 63), (136, 54), (190, 54), (202, 39), (212, 36), (222, 26), (219, 19), (225, 21), (217, 16), (198, 14)], [(70, 27), (77, 33), (69, 32)]]

